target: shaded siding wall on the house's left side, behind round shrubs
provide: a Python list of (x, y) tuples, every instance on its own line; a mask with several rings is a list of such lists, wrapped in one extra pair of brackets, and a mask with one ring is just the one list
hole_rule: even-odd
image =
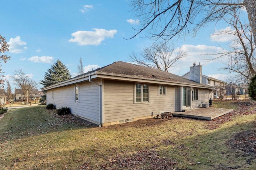
[(74, 115), (78, 115), (94, 123), (100, 122), (100, 86), (86, 82), (78, 84), (79, 101), (75, 99), (75, 85), (47, 91), (47, 104), (53, 103), (56, 108), (69, 107)]

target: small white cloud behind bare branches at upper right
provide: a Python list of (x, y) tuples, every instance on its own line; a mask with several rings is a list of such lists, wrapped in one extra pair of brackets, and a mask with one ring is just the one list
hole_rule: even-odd
[(210, 38), (212, 41), (216, 42), (230, 42), (236, 38), (236, 36), (231, 33), (234, 33), (234, 30), (231, 27), (226, 27), (224, 29), (215, 30), (215, 32), (210, 35)]

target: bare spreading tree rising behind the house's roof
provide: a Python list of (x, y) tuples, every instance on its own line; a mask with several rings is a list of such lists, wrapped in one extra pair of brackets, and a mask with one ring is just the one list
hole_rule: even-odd
[(173, 44), (159, 42), (146, 47), (139, 54), (132, 52), (130, 60), (137, 64), (168, 72), (179, 59), (186, 57), (186, 52), (176, 49)]

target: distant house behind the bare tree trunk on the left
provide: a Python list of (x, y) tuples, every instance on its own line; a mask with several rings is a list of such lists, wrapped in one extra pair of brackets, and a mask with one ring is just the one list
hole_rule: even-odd
[[(32, 89), (29, 95), (29, 100), (39, 100), (41, 98), (42, 92), (37, 89)], [(24, 101), (25, 96), (22, 89), (15, 89), (15, 101)]]

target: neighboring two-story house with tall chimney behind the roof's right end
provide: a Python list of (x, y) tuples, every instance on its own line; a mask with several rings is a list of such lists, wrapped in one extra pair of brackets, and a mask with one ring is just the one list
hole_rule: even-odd
[[(192, 74), (190, 74), (192, 72)], [(184, 74), (182, 77), (191, 79), (191, 76), (198, 75), (200, 79), (200, 82), (203, 84), (207, 84), (210, 86), (215, 87), (215, 89), (212, 92), (212, 99), (218, 99), (218, 98), (224, 98), (224, 95), (226, 94), (225, 91), (225, 84), (226, 82), (222, 80), (218, 80), (216, 78), (208, 77), (202, 74), (202, 65), (196, 65), (196, 63), (193, 63), (193, 66), (190, 67), (190, 71)]]

